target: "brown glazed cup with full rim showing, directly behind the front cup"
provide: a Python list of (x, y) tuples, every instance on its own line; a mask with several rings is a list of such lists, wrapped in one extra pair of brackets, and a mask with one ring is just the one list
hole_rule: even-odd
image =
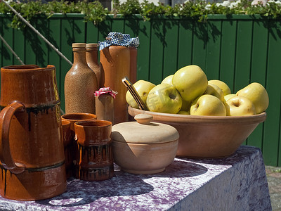
[(75, 140), (74, 123), (80, 120), (96, 120), (96, 115), (91, 113), (67, 113), (62, 115), (63, 121), (70, 122), (70, 143), (65, 146), (65, 163), (67, 178), (75, 176), (75, 165), (77, 164), (77, 143)]

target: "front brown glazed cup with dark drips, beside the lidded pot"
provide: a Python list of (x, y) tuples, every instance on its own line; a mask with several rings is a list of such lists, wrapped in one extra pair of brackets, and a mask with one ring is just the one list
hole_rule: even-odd
[(112, 122), (86, 120), (75, 122), (78, 162), (76, 178), (99, 181), (113, 177)]

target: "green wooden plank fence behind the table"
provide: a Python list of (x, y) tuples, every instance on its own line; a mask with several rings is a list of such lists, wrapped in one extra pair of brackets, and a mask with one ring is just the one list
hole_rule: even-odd
[[(25, 64), (57, 69), (58, 89), (64, 109), (64, 78), (70, 64), (60, 58), (29, 28), (8, 27), (11, 16), (0, 15), (1, 36)], [(209, 15), (206, 23), (188, 18), (130, 18), (108, 16), (98, 26), (85, 23), (84, 15), (55, 14), (37, 18), (32, 25), (72, 60), (73, 42), (98, 42), (108, 32), (123, 32), (139, 37), (138, 79), (159, 84), (167, 75), (185, 65), (200, 65), (208, 79), (221, 79), (235, 93), (250, 82), (266, 87), (270, 106), (266, 122), (259, 124), (244, 144), (262, 149), (266, 165), (281, 166), (281, 22), (259, 15)], [(1, 42), (1, 67), (20, 64)]]

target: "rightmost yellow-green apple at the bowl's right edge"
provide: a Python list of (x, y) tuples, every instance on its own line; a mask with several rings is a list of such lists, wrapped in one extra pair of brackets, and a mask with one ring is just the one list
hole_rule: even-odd
[(268, 108), (269, 98), (268, 92), (263, 85), (253, 82), (247, 87), (240, 89), (236, 93), (237, 96), (244, 96), (248, 98), (256, 108), (256, 114), (263, 113)]

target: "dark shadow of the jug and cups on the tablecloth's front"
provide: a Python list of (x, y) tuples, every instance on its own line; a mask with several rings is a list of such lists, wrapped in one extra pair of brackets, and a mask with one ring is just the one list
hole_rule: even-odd
[(153, 191), (153, 186), (145, 183), (140, 177), (120, 175), (105, 181), (82, 181), (70, 178), (67, 181), (67, 191), (60, 196), (36, 203), (51, 207), (75, 207), (88, 205), (99, 198), (114, 196), (134, 196)]

